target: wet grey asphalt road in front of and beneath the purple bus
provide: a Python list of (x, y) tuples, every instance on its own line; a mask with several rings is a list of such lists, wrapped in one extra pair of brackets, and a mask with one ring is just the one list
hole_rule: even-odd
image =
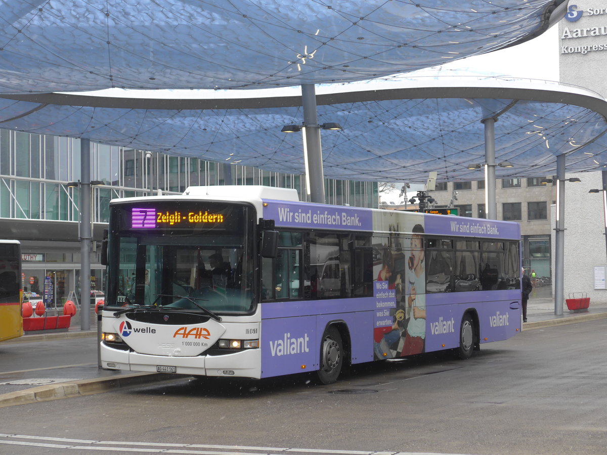
[(189, 378), (0, 409), (0, 454), (605, 454), (605, 320), (523, 331), (470, 360)]

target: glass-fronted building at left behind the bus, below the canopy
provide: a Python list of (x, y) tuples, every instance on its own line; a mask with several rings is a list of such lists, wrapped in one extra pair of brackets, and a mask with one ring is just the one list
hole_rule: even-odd
[[(80, 140), (0, 129), (0, 238), (21, 241), (22, 285), (27, 298), (43, 298), (47, 307), (80, 296), (78, 221)], [(264, 185), (294, 188), (306, 199), (303, 175), (282, 174), (238, 164), (128, 147), (90, 143), (93, 251), (91, 289), (101, 295), (104, 268), (97, 242), (114, 198), (181, 194), (188, 186)], [(327, 203), (378, 207), (378, 184), (325, 179)]]

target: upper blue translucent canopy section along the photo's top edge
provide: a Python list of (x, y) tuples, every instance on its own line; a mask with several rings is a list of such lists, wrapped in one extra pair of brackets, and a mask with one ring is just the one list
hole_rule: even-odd
[(2, 0), (0, 93), (243, 89), (371, 79), (526, 41), (560, 19), (565, 5)]

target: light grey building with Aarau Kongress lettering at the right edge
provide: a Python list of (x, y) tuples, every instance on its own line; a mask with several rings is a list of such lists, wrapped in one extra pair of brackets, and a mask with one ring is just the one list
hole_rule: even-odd
[[(605, 0), (569, 2), (568, 14), (559, 24), (558, 47), (561, 83), (582, 86), (607, 97)], [(605, 164), (597, 163), (597, 171), (606, 169)], [(602, 172), (566, 177), (579, 177), (582, 184), (565, 183), (565, 298), (574, 292), (586, 293), (592, 306), (592, 302), (607, 301), (603, 195), (588, 192), (604, 189)], [(553, 207), (552, 226), (554, 219)]]

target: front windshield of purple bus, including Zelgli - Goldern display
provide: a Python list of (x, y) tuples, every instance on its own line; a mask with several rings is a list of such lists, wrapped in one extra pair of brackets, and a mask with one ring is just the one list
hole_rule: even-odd
[(252, 212), (208, 201), (113, 206), (106, 305), (253, 311)]

